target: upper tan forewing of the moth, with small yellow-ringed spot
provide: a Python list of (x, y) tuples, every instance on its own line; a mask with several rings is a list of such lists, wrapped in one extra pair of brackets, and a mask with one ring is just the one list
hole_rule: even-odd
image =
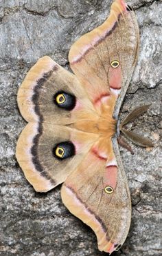
[(69, 52), (71, 69), (93, 104), (108, 95), (120, 96), (115, 117), (119, 114), (135, 68), (138, 48), (139, 30), (135, 13), (123, 0), (116, 0), (108, 19), (78, 39)]

